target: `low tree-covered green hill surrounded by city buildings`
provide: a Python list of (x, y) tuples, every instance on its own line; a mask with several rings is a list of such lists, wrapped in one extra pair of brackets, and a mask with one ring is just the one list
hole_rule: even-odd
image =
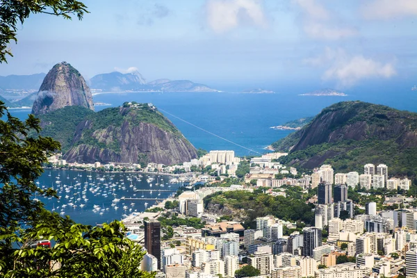
[(236, 211), (244, 209), (247, 226), (252, 225), (255, 218), (265, 215), (274, 215), (288, 221), (302, 220), (306, 224), (313, 224), (314, 214), (311, 211), (313, 206), (306, 204), (302, 198), (304, 197), (295, 192), (288, 197), (273, 197), (262, 193), (262, 189), (255, 190), (254, 193), (236, 190), (208, 195), (204, 198), (204, 206), (207, 208), (210, 204), (218, 204), (220, 209), (224, 206)]

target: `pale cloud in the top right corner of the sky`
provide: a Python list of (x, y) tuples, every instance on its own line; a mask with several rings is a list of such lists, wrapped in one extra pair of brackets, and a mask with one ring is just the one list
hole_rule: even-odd
[(373, 0), (361, 7), (361, 13), (366, 19), (389, 19), (417, 15), (416, 0)]

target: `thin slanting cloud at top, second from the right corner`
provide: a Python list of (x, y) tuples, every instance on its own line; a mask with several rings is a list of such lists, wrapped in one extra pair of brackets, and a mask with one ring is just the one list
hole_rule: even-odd
[(311, 38), (338, 40), (357, 35), (357, 30), (338, 26), (332, 13), (315, 0), (293, 0), (302, 9), (303, 29)]

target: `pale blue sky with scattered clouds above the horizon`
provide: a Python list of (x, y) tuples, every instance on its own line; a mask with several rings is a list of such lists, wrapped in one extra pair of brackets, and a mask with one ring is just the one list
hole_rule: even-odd
[(33, 15), (0, 75), (65, 60), (86, 79), (137, 68), (148, 81), (232, 87), (295, 81), (417, 83), (416, 0), (89, 0), (83, 21)]

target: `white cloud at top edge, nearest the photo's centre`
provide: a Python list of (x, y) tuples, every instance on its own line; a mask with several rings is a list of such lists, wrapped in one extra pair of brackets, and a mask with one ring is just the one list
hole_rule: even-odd
[(230, 31), (245, 23), (267, 26), (261, 0), (208, 0), (206, 17), (208, 26), (216, 33)]

